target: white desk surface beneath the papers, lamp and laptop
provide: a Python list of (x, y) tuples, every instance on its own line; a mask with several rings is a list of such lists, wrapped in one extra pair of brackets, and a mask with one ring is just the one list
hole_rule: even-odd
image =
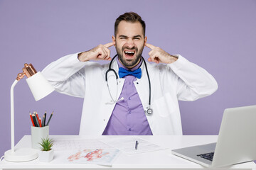
[[(54, 139), (63, 138), (82, 138), (82, 136), (50, 136)], [(111, 136), (100, 136), (102, 138)], [(84, 137), (97, 138), (100, 137)], [(114, 136), (116, 137), (116, 136)], [(35, 159), (31, 162), (0, 162), (0, 169), (203, 169), (203, 166), (187, 161), (171, 154), (171, 149), (181, 147), (190, 147), (193, 145), (203, 145), (206, 143), (216, 142), (218, 136), (139, 136), (144, 140), (168, 147), (169, 149), (159, 150), (156, 152), (147, 152), (128, 156), (124, 153), (114, 161), (112, 166), (100, 166), (90, 164), (60, 164), (56, 163), (60, 152), (55, 152), (55, 159), (50, 163), (39, 162)], [(18, 147), (31, 147), (31, 136), (24, 136), (16, 145)], [(256, 169), (254, 162), (247, 162), (235, 166), (229, 166), (225, 169)]]

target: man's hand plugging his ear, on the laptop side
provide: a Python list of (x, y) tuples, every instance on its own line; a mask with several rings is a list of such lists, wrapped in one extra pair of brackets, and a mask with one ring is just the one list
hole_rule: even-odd
[(146, 43), (145, 45), (146, 47), (149, 47), (151, 49), (151, 51), (149, 52), (149, 62), (156, 62), (157, 64), (159, 64), (160, 62), (170, 64), (178, 60), (177, 57), (169, 55), (169, 53), (165, 52), (160, 47), (155, 47), (154, 45), (148, 43)]

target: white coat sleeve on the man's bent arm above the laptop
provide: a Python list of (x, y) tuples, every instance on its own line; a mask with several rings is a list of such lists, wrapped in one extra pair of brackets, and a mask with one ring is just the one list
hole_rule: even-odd
[(168, 64), (177, 75), (177, 97), (181, 101), (195, 101), (213, 94), (218, 89), (217, 81), (206, 69), (189, 62), (181, 55), (178, 60)]

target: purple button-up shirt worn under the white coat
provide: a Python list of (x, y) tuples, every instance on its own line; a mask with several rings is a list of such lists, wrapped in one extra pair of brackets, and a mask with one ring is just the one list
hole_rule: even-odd
[[(124, 67), (119, 60), (117, 60), (119, 67)], [(136, 67), (131, 70), (139, 69), (142, 60)], [(102, 135), (153, 135), (146, 119), (142, 101), (139, 98), (134, 82), (136, 77), (127, 75), (124, 77), (124, 86), (119, 96), (124, 98), (118, 101), (110, 117), (107, 127)]]

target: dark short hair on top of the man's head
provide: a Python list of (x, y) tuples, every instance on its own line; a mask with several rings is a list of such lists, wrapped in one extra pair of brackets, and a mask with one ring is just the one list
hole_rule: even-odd
[(139, 16), (137, 13), (134, 12), (129, 12), (129, 13), (124, 13), (121, 16), (119, 16), (115, 23), (114, 23), (114, 36), (117, 35), (117, 27), (119, 25), (119, 23), (121, 21), (127, 21), (127, 22), (131, 22), (131, 23), (135, 23), (135, 22), (139, 22), (142, 24), (142, 28), (143, 28), (143, 35), (145, 37), (145, 33), (146, 33), (146, 24), (145, 22), (142, 20), (142, 17)]

